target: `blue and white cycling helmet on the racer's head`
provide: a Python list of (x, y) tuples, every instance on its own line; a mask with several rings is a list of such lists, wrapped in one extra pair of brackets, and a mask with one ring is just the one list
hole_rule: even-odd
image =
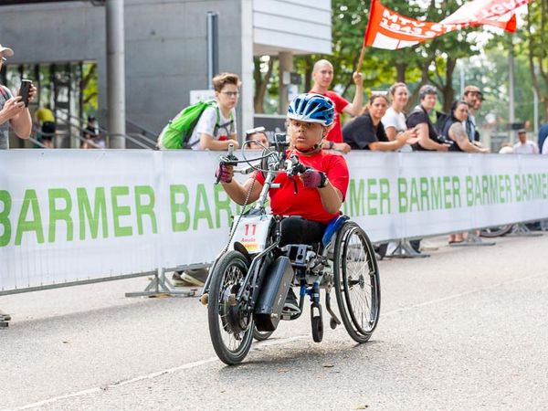
[(332, 100), (321, 94), (299, 94), (288, 108), (288, 117), (291, 120), (319, 122), (322, 126), (332, 125), (334, 115), (335, 105)]

